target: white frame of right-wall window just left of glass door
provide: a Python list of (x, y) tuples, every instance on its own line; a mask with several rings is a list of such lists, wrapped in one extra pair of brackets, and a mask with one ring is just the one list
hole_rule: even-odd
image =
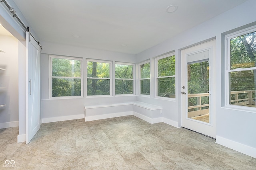
[[(175, 100), (176, 99), (176, 55), (175, 55), (175, 74), (172, 75), (172, 76), (160, 76), (160, 77), (158, 77), (158, 60), (164, 59), (164, 58), (167, 58), (167, 57), (172, 57), (174, 55), (175, 55), (175, 52), (155, 58), (155, 98), (161, 98), (161, 99), (165, 99), (165, 100)], [(157, 96), (157, 88), (158, 88), (157, 87), (157, 79), (158, 78), (168, 78), (168, 77), (174, 77), (175, 78), (175, 98), (167, 98), (167, 97)]]

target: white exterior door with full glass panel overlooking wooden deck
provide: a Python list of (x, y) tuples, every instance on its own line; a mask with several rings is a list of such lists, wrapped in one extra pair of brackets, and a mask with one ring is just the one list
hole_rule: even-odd
[(208, 41), (181, 51), (182, 127), (215, 138), (212, 109), (212, 58), (216, 41)]

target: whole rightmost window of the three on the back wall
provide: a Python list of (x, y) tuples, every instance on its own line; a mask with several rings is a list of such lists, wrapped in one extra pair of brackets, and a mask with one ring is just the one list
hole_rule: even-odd
[(115, 65), (116, 94), (133, 94), (133, 65), (117, 63)]

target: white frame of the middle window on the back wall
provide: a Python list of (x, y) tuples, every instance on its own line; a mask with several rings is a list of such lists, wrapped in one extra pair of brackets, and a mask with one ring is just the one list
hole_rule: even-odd
[[(87, 64), (89, 62), (97, 62), (97, 63), (109, 63), (109, 78), (94, 78), (94, 77), (88, 77), (87, 74)], [(97, 59), (86, 59), (86, 98), (98, 98), (98, 97), (109, 97), (112, 96), (112, 61), (106, 61), (106, 60), (97, 60)], [(106, 94), (106, 95), (87, 95), (87, 82), (88, 79), (107, 79), (110, 80), (110, 94)]]

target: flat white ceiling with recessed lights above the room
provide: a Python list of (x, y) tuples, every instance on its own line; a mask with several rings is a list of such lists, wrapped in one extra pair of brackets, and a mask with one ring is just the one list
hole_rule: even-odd
[[(40, 41), (130, 54), (140, 53), (245, 1), (14, 0)], [(167, 13), (166, 8), (173, 4), (178, 10)]]

